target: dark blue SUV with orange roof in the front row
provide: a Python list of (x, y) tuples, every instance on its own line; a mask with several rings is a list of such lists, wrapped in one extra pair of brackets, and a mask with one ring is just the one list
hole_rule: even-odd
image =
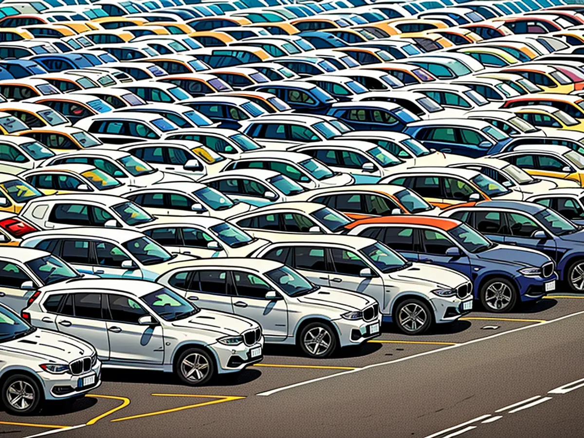
[(359, 220), (349, 234), (375, 238), (412, 262), (449, 267), (470, 277), (474, 297), (491, 312), (508, 312), (555, 289), (554, 262), (538, 251), (489, 241), (453, 218), (418, 215)]

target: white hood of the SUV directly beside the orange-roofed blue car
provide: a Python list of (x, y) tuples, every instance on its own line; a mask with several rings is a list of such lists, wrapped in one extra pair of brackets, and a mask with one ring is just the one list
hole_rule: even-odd
[(391, 280), (406, 281), (429, 288), (457, 287), (469, 281), (467, 276), (452, 269), (429, 265), (427, 263), (412, 263), (412, 266), (386, 274)]

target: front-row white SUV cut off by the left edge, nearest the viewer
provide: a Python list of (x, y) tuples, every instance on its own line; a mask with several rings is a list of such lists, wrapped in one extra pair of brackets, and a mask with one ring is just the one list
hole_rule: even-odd
[(2, 404), (14, 415), (30, 415), (46, 401), (76, 398), (101, 384), (102, 364), (91, 345), (30, 326), (1, 304), (0, 358)]

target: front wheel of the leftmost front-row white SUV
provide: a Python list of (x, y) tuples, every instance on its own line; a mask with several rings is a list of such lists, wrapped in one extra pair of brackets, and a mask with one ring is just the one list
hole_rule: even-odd
[(2, 385), (2, 403), (8, 413), (31, 415), (40, 408), (42, 401), (39, 384), (25, 374), (8, 377)]

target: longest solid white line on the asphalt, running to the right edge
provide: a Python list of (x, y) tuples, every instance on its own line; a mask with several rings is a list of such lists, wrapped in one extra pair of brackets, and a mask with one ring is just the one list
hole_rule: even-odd
[(550, 319), (549, 321), (538, 322), (537, 324), (526, 325), (526, 326), (519, 327), (519, 328), (516, 328), (516, 329), (508, 330), (506, 332), (495, 333), (495, 334), (490, 335), (490, 336), (485, 336), (484, 338), (472, 339), (472, 340), (469, 340), (467, 342), (463, 342), (463, 343), (460, 343), (460, 344), (449, 345), (449, 346), (446, 346), (446, 347), (437, 348), (435, 350), (430, 350), (430, 351), (423, 352), (423, 353), (413, 354), (412, 356), (401, 357), (400, 359), (390, 360), (390, 361), (381, 362), (381, 363), (374, 363), (374, 364), (371, 364), (371, 365), (367, 365), (367, 366), (361, 367), (361, 368), (356, 369), (356, 370), (342, 371), (340, 373), (329, 374), (329, 376), (317, 377), (317, 378), (313, 378), (311, 380), (305, 380), (303, 382), (294, 383), (294, 384), (287, 385), (287, 386), (284, 386), (284, 387), (274, 388), (273, 390), (259, 392), (256, 395), (262, 395), (262, 396), (272, 395), (272, 394), (276, 394), (276, 392), (291, 390), (292, 388), (297, 388), (297, 387), (300, 387), (300, 386), (303, 386), (303, 385), (308, 385), (308, 384), (311, 384), (311, 383), (316, 383), (316, 382), (319, 382), (319, 381), (322, 381), (322, 380), (326, 380), (328, 378), (346, 376), (347, 374), (359, 373), (360, 371), (369, 370), (369, 369), (375, 368), (375, 367), (381, 367), (381, 366), (385, 366), (385, 365), (390, 365), (390, 364), (402, 362), (402, 361), (405, 361), (405, 360), (416, 359), (416, 357), (427, 356), (428, 354), (440, 353), (440, 352), (444, 352), (446, 350), (451, 350), (451, 349), (454, 349), (454, 348), (460, 348), (460, 347), (463, 347), (463, 346), (466, 346), (466, 345), (472, 345), (472, 344), (477, 343), (477, 342), (483, 342), (485, 340), (491, 340), (491, 339), (498, 338), (499, 336), (508, 335), (509, 333), (520, 332), (522, 330), (529, 330), (529, 329), (533, 329), (534, 327), (540, 327), (542, 325), (552, 324), (552, 322), (562, 321), (562, 319), (572, 318), (572, 317), (576, 317), (576, 316), (582, 315), (582, 314), (584, 314), (584, 311), (575, 312), (573, 314), (564, 315), (563, 317), (559, 317), (559, 318), (556, 318), (556, 319)]

